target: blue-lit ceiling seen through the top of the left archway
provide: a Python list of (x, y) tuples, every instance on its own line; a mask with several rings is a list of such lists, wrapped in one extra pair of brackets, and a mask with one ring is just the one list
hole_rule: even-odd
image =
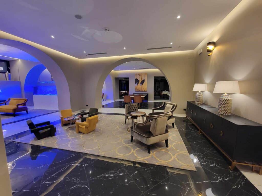
[(0, 59), (12, 61), (12, 60), (15, 60), (13, 58), (39, 62), (35, 57), (24, 52), (23, 50), (20, 50), (20, 49), (17, 49), (17, 48), (8, 46), (8, 45), (0, 44)]

